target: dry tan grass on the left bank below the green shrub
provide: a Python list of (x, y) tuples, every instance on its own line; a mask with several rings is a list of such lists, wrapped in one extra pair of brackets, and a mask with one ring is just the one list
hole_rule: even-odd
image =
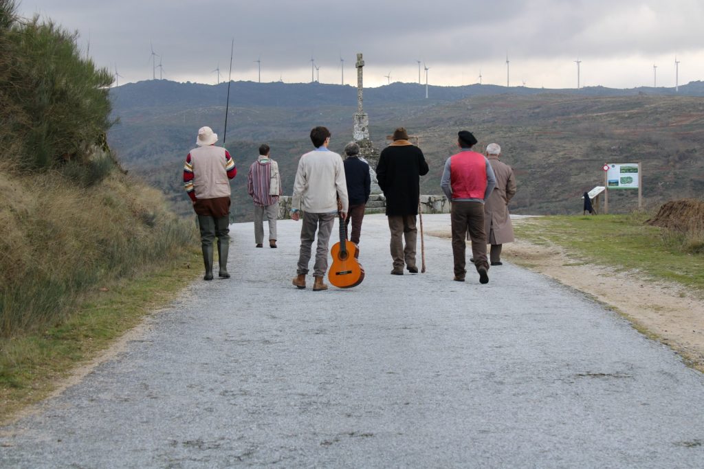
[(0, 176), (0, 335), (65, 319), (89, 289), (168, 262), (194, 227), (158, 191), (113, 172), (80, 188), (59, 173)]

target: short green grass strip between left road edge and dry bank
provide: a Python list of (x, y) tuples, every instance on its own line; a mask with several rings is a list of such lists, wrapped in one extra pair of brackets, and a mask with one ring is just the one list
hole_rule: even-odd
[(200, 250), (189, 250), (161, 269), (87, 293), (60, 326), (0, 338), (0, 422), (49, 395), (73, 368), (171, 302), (202, 274), (200, 263)]

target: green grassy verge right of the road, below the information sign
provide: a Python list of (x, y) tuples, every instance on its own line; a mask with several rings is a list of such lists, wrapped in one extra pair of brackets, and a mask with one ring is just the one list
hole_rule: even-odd
[(704, 293), (704, 255), (685, 252), (681, 239), (643, 222), (647, 214), (553, 216), (515, 224), (517, 238), (559, 245), (586, 263), (639, 271)]

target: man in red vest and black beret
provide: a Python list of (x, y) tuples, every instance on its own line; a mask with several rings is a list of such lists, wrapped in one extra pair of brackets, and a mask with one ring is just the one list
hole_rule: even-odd
[(440, 186), (451, 200), (452, 252), (455, 281), (465, 281), (465, 238), (467, 230), (472, 240), (472, 257), (479, 273), (479, 283), (489, 283), (489, 262), (486, 261), (484, 202), (496, 186), (494, 170), (482, 153), (472, 151), (477, 143), (469, 131), (458, 133), (460, 153), (445, 162)]

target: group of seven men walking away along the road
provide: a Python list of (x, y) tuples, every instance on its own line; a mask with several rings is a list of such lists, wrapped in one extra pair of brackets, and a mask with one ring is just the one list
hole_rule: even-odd
[[(291, 198), (291, 219), (301, 221), (301, 245), (296, 276), (292, 283), (306, 288), (313, 242), (317, 239), (313, 264), (313, 291), (327, 290), (324, 278), (328, 266), (329, 238), (334, 220), (340, 217), (351, 225), (349, 239), (360, 243), (365, 207), (370, 195), (370, 168), (359, 157), (357, 143), (344, 148), (346, 159), (329, 150), (332, 135), (326, 127), (310, 131), (313, 150), (301, 156), (294, 179)], [(201, 248), (206, 274), (213, 279), (213, 240), (218, 238), (220, 278), (227, 273), (229, 246), (229, 180), (237, 174), (234, 162), (225, 148), (215, 147), (218, 141), (210, 127), (201, 127), (196, 148), (187, 155), (184, 185), (198, 215)], [(465, 281), (465, 239), (472, 245), (470, 262), (479, 274), (480, 283), (489, 282), (490, 266), (501, 265), (503, 243), (513, 241), (513, 228), (508, 216), (508, 203), (516, 193), (513, 169), (499, 160), (501, 147), (491, 143), (486, 154), (472, 150), (477, 144), (469, 131), (458, 132), (458, 153), (444, 165), (441, 188), (451, 201), (451, 229), (454, 280)], [(429, 171), (420, 148), (410, 143), (403, 127), (394, 131), (393, 143), (382, 150), (376, 167), (377, 182), (386, 198), (386, 217), (391, 240), (391, 275), (403, 275), (404, 269), (417, 274), (416, 218), (420, 200), (420, 176)], [(269, 226), (269, 246), (277, 248), (276, 220), (281, 175), (277, 163), (270, 158), (270, 148), (263, 144), (259, 156), (249, 168), (247, 191), (254, 204), (254, 237), (257, 248), (263, 248), (263, 221)], [(486, 245), (491, 245), (487, 257)]]

